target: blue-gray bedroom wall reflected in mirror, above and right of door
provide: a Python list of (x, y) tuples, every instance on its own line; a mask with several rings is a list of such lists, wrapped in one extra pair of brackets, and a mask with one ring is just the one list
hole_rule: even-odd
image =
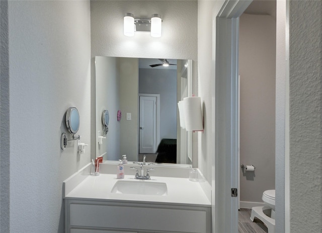
[(160, 95), (160, 140), (177, 138), (177, 70), (140, 68), (139, 93)]

